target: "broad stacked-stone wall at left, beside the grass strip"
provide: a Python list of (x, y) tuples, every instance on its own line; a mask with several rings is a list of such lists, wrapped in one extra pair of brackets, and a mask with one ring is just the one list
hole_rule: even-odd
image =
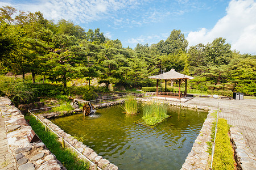
[(15, 157), (20, 170), (65, 169), (44, 143), (28, 141), (27, 135), (32, 128), (10, 99), (0, 97), (0, 108), (1, 116), (5, 119), (9, 152)]

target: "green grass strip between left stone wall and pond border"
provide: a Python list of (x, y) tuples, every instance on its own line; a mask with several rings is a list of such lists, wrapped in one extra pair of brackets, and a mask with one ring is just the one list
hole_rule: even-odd
[(46, 147), (63, 163), (67, 169), (89, 169), (89, 163), (77, 158), (76, 154), (68, 148), (63, 148), (58, 142), (57, 136), (50, 131), (45, 131), (44, 126), (37, 122), (35, 117), (26, 116), (30, 125)]

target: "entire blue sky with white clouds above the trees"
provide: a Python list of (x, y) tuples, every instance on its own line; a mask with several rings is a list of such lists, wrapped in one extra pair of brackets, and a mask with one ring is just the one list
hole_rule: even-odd
[(256, 55), (255, 0), (0, 0), (6, 5), (72, 20), (85, 31), (100, 28), (123, 47), (155, 44), (180, 29), (189, 46), (223, 37), (232, 50)]

